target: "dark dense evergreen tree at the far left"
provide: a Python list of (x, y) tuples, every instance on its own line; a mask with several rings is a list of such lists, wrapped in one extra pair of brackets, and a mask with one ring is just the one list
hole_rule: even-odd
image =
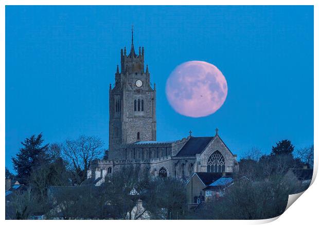
[(26, 138), (24, 142), (21, 142), (23, 147), (20, 148), (16, 157), (12, 157), (13, 168), (22, 182), (28, 181), (33, 168), (48, 162), (47, 150), (49, 145), (42, 145), (42, 143), (42, 134), (37, 137), (32, 135), (30, 138)]

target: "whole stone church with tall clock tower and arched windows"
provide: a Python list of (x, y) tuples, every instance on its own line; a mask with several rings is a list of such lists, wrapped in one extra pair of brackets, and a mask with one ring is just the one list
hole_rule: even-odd
[[(120, 52), (121, 64), (110, 84), (109, 159), (94, 160), (87, 178), (101, 180), (126, 165), (139, 166), (152, 176), (188, 179), (194, 172), (233, 173), (237, 155), (215, 130), (210, 137), (188, 137), (176, 141), (156, 141), (156, 86), (150, 83), (144, 65), (144, 47), (135, 53)], [(212, 131), (213, 133), (214, 131)]]

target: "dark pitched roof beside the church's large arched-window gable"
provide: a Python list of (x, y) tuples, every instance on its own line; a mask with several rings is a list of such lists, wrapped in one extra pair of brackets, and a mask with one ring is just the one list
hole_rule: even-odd
[(196, 154), (202, 153), (213, 138), (214, 137), (190, 137), (176, 157), (196, 156)]

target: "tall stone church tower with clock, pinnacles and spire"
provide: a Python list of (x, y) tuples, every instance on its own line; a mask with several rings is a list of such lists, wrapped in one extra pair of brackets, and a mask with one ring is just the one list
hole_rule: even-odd
[(115, 86), (110, 84), (110, 159), (117, 158), (122, 144), (156, 141), (156, 89), (151, 87), (148, 66), (144, 70), (144, 47), (138, 55), (132, 44), (127, 55), (121, 49), (121, 66), (117, 66)]

